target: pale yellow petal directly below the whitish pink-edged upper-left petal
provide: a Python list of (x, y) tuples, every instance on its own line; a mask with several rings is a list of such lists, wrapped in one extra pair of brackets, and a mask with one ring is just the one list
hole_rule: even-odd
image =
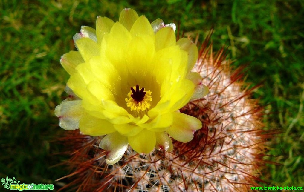
[(98, 44), (90, 38), (81, 38), (76, 41), (77, 48), (82, 58), (89, 61), (90, 58), (100, 55)]

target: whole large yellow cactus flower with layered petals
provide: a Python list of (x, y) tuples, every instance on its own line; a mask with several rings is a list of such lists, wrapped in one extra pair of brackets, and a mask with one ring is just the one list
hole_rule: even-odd
[(202, 123), (178, 110), (208, 88), (190, 72), (197, 47), (187, 38), (176, 41), (174, 32), (173, 23), (150, 23), (133, 9), (124, 9), (118, 22), (98, 16), (96, 30), (82, 26), (74, 36), (78, 51), (60, 59), (71, 75), (70, 96), (55, 109), (60, 127), (105, 135), (99, 146), (108, 164), (118, 162), (128, 145), (150, 153), (154, 147), (170, 151), (171, 137), (191, 141)]

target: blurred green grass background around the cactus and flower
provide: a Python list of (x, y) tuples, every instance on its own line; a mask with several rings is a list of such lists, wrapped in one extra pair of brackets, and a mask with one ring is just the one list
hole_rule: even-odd
[(262, 84), (253, 97), (265, 106), (266, 129), (282, 132), (269, 140), (267, 157), (281, 165), (268, 164), (262, 179), (304, 186), (302, 0), (0, 1), (0, 178), (64, 184), (54, 182), (68, 173), (54, 166), (68, 158), (56, 142), (64, 130), (54, 108), (68, 79), (60, 56), (75, 49), (82, 25), (95, 28), (98, 15), (117, 20), (124, 8), (180, 22), (200, 40), (214, 28), (214, 50), (229, 46), (234, 67), (247, 65), (245, 81)]

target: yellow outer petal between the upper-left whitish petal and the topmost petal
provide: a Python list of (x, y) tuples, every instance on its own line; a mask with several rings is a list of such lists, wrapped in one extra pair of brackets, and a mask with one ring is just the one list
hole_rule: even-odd
[(105, 36), (106, 33), (110, 33), (110, 30), (112, 26), (114, 25), (114, 22), (107, 18), (107, 17), (101, 17), (98, 16), (96, 19), (96, 36), (97, 36), (97, 42), (100, 45), (103, 39), (103, 36)]

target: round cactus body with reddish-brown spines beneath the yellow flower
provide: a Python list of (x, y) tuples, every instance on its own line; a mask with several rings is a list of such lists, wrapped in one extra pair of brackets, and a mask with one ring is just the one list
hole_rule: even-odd
[[(154, 149), (137, 154), (130, 147), (114, 165), (105, 163), (98, 147), (102, 137), (69, 131), (63, 139), (73, 146), (67, 165), (71, 182), (62, 189), (79, 191), (244, 191), (257, 186), (264, 142), (261, 114), (252, 90), (241, 81), (241, 69), (232, 72), (225, 50), (212, 53), (211, 34), (202, 43), (193, 71), (202, 76), (209, 94), (190, 101), (180, 112), (202, 121), (188, 143), (173, 141), (173, 151)], [(61, 178), (61, 179), (63, 179)], [(60, 179), (59, 179), (60, 180)]]

